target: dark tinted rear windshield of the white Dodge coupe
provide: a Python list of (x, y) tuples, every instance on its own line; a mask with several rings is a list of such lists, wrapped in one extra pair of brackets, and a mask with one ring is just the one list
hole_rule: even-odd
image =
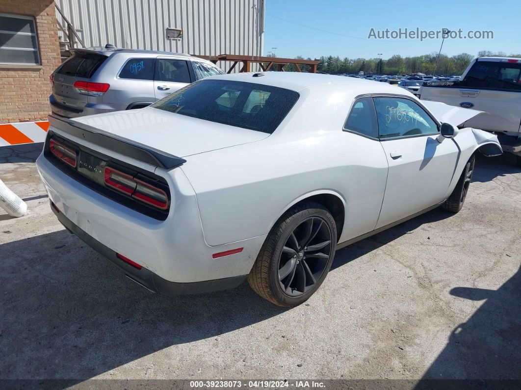
[(275, 86), (228, 80), (201, 80), (151, 107), (193, 118), (272, 133), (299, 94)]

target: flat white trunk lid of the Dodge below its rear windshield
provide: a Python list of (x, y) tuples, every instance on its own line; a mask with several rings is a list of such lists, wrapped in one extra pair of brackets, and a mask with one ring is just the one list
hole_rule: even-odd
[(173, 114), (156, 108), (108, 112), (73, 118), (113, 138), (187, 157), (260, 141), (268, 133)]

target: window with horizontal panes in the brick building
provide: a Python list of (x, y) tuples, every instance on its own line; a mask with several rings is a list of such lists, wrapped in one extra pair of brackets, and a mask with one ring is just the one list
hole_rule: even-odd
[(0, 64), (41, 65), (32, 16), (0, 14)]

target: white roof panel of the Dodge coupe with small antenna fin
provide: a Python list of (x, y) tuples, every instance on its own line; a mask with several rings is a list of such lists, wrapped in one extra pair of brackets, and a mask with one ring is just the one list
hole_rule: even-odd
[[(258, 76), (256, 76), (258, 75)], [(263, 76), (260, 76), (263, 75)], [(366, 79), (333, 76), (331, 74), (319, 74), (308, 72), (243, 72), (232, 74), (221, 74), (212, 76), (213, 80), (233, 80), (250, 82), (271, 86), (278, 86), (284, 89), (300, 91), (307, 87), (322, 84), (349, 84), (353, 90), (363, 91), (369, 85), (381, 84), (382, 93), (389, 89), (389, 92), (395, 91), (395, 87), (388, 83), (380, 83)]]

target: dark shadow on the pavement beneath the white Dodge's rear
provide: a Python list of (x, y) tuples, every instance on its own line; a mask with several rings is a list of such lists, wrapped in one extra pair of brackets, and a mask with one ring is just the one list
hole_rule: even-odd
[[(73, 379), (172, 345), (244, 328), (286, 309), (246, 283), (169, 298), (125, 278), (66, 230), (0, 245), (0, 378)], [(238, 359), (242, 357), (238, 356)]]

